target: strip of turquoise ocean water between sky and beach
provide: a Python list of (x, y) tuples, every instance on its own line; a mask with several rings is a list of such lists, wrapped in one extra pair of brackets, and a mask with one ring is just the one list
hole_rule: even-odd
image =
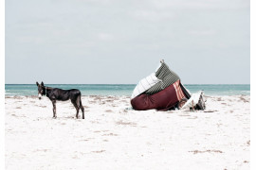
[[(130, 96), (136, 84), (45, 84), (61, 89), (79, 89), (82, 95), (127, 95)], [(206, 95), (250, 94), (249, 84), (185, 84), (191, 93), (204, 90)], [(35, 84), (6, 84), (6, 95), (37, 95)]]

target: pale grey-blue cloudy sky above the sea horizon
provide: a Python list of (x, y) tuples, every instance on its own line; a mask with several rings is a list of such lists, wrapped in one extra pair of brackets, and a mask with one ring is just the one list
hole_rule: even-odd
[(5, 83), (250, 83), (249, 0), (8, 0)]

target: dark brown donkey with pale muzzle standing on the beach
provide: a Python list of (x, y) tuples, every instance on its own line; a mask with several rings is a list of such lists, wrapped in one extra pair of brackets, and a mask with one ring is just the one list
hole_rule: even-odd
[(71, 103), (77, 110), (76, 117), (78, 119), (79, 110), (82, 110), (82, 119), (84, 119), (84, 109), (82, 107), (81, 101), (81, 92), (78, 89), (70, 89), (70, 90), (63, 90), (58, 88), (51, 88), (46, 87), (44, 82), (42, 81), (41, 84), (36, 82), (38, 87), (38, 98), (41, 99), (42, 95), (46, 95), (50, 101), (52, 102), (53, 106), (53, 118), (57, 118), (56, 115), (56, 100), (66, 101), (71, 100)]

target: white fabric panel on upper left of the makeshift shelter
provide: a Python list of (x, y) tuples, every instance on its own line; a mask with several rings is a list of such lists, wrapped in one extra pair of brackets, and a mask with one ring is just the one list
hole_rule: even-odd
[(144, 93), (148, 89), (150, 89), (152, 86), (154, 86), (157, 82), (160, 82), (161, 80), (158, 79), (155, 76), (155, 73), (152, 73), (150, 76), (147, 76), (143, 79), (141, 79), (138, 83), (137, 86), (131, 96), (131, 98), (135, 98), (137, 95), (140, 93)]

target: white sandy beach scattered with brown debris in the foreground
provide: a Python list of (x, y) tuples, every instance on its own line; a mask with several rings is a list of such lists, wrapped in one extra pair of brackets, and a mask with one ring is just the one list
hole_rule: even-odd
[(6, 96), (6, 169), (249, 169), (250, 96), (208, 96), (207, 110), (131, 110), (127, 96), (70, 102)]

